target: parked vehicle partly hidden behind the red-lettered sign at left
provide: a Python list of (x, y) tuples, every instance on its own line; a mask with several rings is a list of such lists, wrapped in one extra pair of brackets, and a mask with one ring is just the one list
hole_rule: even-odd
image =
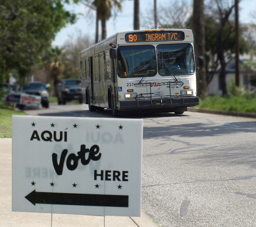
[(41, 96), (42, 107), (49, 108), (49, 93), (46, 91), (45, 85), (42, 82), (22, 84), (19, 88), (19, 92)]

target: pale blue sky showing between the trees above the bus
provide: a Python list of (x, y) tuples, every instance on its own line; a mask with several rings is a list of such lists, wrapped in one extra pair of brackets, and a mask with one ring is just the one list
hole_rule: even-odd
[[(157, 0), (157, 8), (160, 5), (170, 4), (170, 2), (177, 0)], [(192, 0), (187, 0), (192, 5)], [(122, 3), (122, 12), (117, 12), (116, 17), (112, 16), (107, 21), (107, 37), (122, 31), (133, 30), (133, 0), (124, 0)], [(82, 4), (72, 4), (65, 7), (67, 10), (75, 13), (80, 13), (85, 16), (78, 16), (78, 20), (75, 24), (67, 25), (63, 28), (53, 41), (53, 46), (63, 46), (68, 39), (75, 39), (79, 35), (88, 35), (94, 41), (95, 39), (95, 11)], [(150, 17), (150, 13), (153, 12), (154, 0), (140, 0), (140, 28), (148, 28), (147, 17)], [(240, 23), (256, 23), (256, 20), (252, 18), (253, 11), (256, 12), (256, 0), (242, 0), (239, 3), (239, 21)], [(158, 11), (158, 14), (161, 12)], [(172, 13), (172, 12), (170, 12)], [(154, 15), (152, 14), (152, 18)], [(101, 37), (101, 24), (99, 23), (99, 37)]]

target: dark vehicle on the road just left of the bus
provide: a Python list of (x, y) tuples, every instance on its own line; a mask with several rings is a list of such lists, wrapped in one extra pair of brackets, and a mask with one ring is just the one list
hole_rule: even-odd
[(66, 104), (67, 101), (79, 100), (83, 103), (80, 79), (65, 79), (58, 84), (58, 104)]

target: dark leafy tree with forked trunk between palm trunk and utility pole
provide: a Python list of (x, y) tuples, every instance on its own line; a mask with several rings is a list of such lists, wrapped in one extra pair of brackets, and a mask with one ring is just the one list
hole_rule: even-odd
[[(208, 47), (206, 47), (206, 51), (208, 48), (211, 50), (211, 56), (213, 56), (214, 54), (216, 54), (217, 56), (214, 64), (212, 65), (212, 70), (210, 74), (207, 75), (208, 82), (211, 80), (219, 64), (221, 66), (220, 84), (222, 89), (222, 95), (227, 95), (226, 55), (232, 54), (235, 51), (235, 25), (233, 15), (235, 5), (233, 0), (208, 0), (207, 6), (208, 14), (206, 20), (212, 23), (205, 23), (206, 43), (208, 41), (209, 45)], [(242, 53), (243, 51), (247, 50), (246, 43), (244, 42), (244, 39), (241, 37), (240, 53)]]

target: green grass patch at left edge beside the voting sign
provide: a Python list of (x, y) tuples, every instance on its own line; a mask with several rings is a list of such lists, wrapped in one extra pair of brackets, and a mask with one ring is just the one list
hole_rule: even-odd
[(12, 115), (27, 115), (22, 111), (12, 109), (12, 105), (7, 106), (0, 102), (0, 138), (12, 137)]

